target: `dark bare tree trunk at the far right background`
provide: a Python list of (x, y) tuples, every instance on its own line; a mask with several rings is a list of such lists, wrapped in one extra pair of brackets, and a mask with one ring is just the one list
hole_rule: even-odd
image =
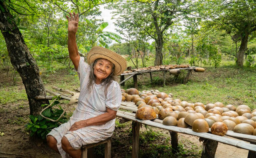
[(241, 38), (241, 44), (237, 53), (237, 65), (243, 67), (244, 63), (244, 53), (247, 50), (247, 43), (248, 43), (249, 33), (245, 32), (245, 35)]

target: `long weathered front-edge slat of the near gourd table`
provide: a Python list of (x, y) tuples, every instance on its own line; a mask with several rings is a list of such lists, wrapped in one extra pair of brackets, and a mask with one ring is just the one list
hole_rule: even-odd
[(222, 137), (222, 136), (218, 136), (218, 135), (213, 135), (211, 133), (197, 133), (192, 131), (189, 128), (181, 128), (181, 127), (176, 127), (176, 126), (166, 126), (160, 123), (156, 123), (156, 122), (152, 122), (150, 120), (139, 120), (136, 119), (133, 116), (129, 116), (129, 115), (125, 115), (122, 113), (117, 112), (117, 116), (119, 117), (123, 117), (125, 119), (129, 119), (135, 122), (139, 122), (139, 123), (143, 123), (149, 126), (153, 126), (153, 127), (158, 127), (158, 128), (162, 128), (162, 129), (166, 129), (166, 130), (170, 130), (170, 131), (174, 131), (174, 132), (179, 132), (179, 133), (184, 133), (184, 134), (190, 134), (190, 135), (194, 135), (194, 136), (198, 136), (198, 137), (203, 137), (206, 139), (210, 139), (210, 140), (215, 140), (224, 144), (228, 144), (228, 145), (232, 145), (238, 148), (242, 148), (242, 149), (247, 149), (247, 150), (251, 150), (251, 151), (256, 151), (256, 145), (254, 144), (250, 144), (250, 143), (246, 143), (244, 141), (241, 140), (234, 140), (234, 139), (230, 139), (227, 137)]

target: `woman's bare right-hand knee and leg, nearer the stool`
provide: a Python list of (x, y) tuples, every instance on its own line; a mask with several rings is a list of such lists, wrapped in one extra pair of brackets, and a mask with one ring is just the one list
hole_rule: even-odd
[(73, 149), (72, 146), (70, 146), (70, 143), (65, 136), (63, 136), (61, 139), (61, 147), (72, 158), (80, 158), (81, 157), (81, 154), (82, 154), (81, 149), (78, 149), (78, 150)]

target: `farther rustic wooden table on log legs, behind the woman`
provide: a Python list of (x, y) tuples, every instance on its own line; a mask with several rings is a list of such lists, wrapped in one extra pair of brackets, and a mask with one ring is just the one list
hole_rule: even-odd
[[(119, 85), (124, 86), (124, 82), (133, 77), (133, 83), (134, 83), (134, 88), (138, 89), (138, 81), (137, 81), (137, 75), (141, 75), (143, 73), (149, 73), (150, 74), (150, 80), (152, 82), (152, 72), (163, 72), (164, 73), (164, 81), (163, 85), (165, 85), (165, 79), (166, 79), (166, 72), (169, 72), (170, 70), (188, 70), (188, 73), (186, 77), (183, 80), (183, 83), (186, 83), (189, 79), (190, 74), (192, 73), (192, 70), (195, 70), (196, 67), (188, 67), (188, 68), (177, 68), (177, 69), (160, 69), (160, 70), (141, 70), (141, 71), (134, 71), (134, 72), (129, 72), (129, 73), (122, 73), (120, 75), (120, 83)], [(129, 75), (126, 79), (124, 76)], [(175, 75), (175, 78), (178, 78), (179, 74)]]

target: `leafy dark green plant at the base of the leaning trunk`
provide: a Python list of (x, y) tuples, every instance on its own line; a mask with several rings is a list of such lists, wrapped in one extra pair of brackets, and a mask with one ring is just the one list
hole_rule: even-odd
[[(54, 98), (53, 98), (54, 99)], [(53, 108), (54, 105), (59, 104), (59, 101), (55, 101), (50, 108), (46, 109), (42, 112), (42, 115), (57, 120), (62, 114), (63, 110), (59, 105), (59, 109)], [(48, 104), (41, 105), (42, 107), (47, 106)], [(35, 135), (37, 138), (45, 139), (46, 135), (53, 129), (58, 127), (60, 124), (67, 122), (66, 114), (56, 122), (50, 121), (48, 119), (43, 118), (41, 115), (29, 115), (30, 121), (26, 124), (26, 130), (30, 131), (30, 136)]]

